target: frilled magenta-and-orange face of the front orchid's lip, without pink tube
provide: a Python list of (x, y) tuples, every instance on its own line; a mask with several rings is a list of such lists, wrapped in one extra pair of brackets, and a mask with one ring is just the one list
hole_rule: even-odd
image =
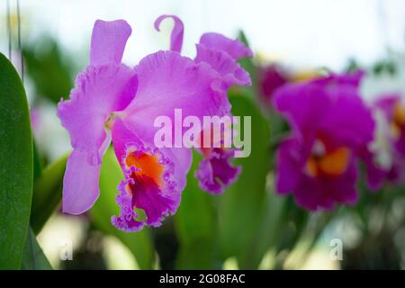
[[(112, 224), (125, 231), (136, 231), (144, 225), (160, 226), (179, 204), (174, 164), (157, 148), (139, 144), (126, 148), (121, 166), (125, 180), (116, 196), (121, 212), (112, 217)], [(142, 220), (139, 213), (145, 215)]]

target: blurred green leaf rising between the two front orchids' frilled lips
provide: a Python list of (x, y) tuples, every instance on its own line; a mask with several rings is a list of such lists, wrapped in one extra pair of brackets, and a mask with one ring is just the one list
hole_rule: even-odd
[(175, 229), (180, 242), (178, 269), (220, 268), (216, 260), (217, 215), (213, 196), (203, 192), (194, 174), (202, 156), (193, 154), (193, 166), (187, 175), (182, 202), (175, 213)]

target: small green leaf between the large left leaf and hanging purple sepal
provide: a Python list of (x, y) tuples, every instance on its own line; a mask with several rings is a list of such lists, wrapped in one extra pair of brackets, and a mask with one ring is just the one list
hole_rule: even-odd
[(58, 207), (62, 198), (67, 155), (45, 167), (35, 180), (32, 194), (31, 228), (36, 235)]

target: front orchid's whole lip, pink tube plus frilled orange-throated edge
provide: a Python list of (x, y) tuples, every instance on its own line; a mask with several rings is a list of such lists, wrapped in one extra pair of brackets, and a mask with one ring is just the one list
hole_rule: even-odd
[[(125, 175), (116, 196), (121, 212), (112, 217), (112, 224), (125, 231), (159, 226), (180, 203), (191, 165), (190, 149), (154, 148), (119, 118), (112, 125), (112, 145)], [(146, 219), (139, 218), (136, 209), (142, 210)]]

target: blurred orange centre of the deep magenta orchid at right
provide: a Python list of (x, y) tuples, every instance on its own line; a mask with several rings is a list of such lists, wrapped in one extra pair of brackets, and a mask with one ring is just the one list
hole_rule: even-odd
[(345, 147), (336, 148), (329, 152), (314, 151), (305, 165), (305, 172), (313, 177), (341, 175), (347, 169), (349, 157), (349, 149)]

